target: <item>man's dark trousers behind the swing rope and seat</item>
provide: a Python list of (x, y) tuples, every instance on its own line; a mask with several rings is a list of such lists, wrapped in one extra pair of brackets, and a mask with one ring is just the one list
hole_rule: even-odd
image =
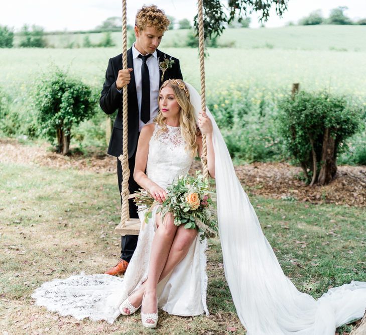
[[(137, 148), (136, 148), (137, 149)], [(135, 159), (136, 159), (136, 149), (135, 153), (131, 158), (129, 158), (129, 167), (130, 167), (130, 179), (129, 179), (129, 191), (130, 194), (135, 193), (135, 191), (139, 190), (140, 186), (134, 179), (134, 169), (135, 169)], [(117, 176), (118, 176), (118, 187), (119, 194), (121, 192), (121, 183), (122, 183), (122, 166), (120, 160), (117, 158)], [(121, 197), (122, 203), (122, 197)], [(129, 208), (130, 208), (130, 218), (138, 218), (139, 215), (137, 213), (137, 206), (133, 199), (129, 199)], [(135, 252), (137, 246), (138, 236), (136, 235), (126, 235), (121, 237), (121, 255), (120, 258), (125, 260), (126, 262), (131, 261), (131, 257)]]

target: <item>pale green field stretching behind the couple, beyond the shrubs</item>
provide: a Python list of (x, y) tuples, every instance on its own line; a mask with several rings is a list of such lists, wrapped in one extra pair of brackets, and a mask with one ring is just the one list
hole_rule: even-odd
[[(182, 41), (185, 34), (187, 30), (168, 31), (160, 49), (178, 57), (185, 80), (198, 86), (197, 50), (171, 47), (174, 39)], [(89, 35), (95, 42), (100, 38), (100, 34)], [(82, 39), (84, 36), (55, 35), (47, 38), (54, 39), (52, 43), (56, 46), (62, 46), (62, 39)], [(120, 33), (113, 33), (117, 45), (120, 45), (119, 36)], [(206, 59), (208, 88), (228, 88), (230, 83), (247, 83), (251, 87), (271, 91), (279, 88), (289, 90), (293, 82), (300, 82), (306, 89), (326, 88), (364, 95), (365, 36), (366, 27), (363, 26), (228, 29), (220, 40), (235, 41), (236, 48), (209, 49)], [(0, 54), (0, 86), (14, 93), (15, 87), (29, 87), (30, 82), (46, 72), (51, 64), (56, 64), (69, 69), (85, 82), (100, 87), (108, 58), (120, 51), (119, 47), (3, 49)]]

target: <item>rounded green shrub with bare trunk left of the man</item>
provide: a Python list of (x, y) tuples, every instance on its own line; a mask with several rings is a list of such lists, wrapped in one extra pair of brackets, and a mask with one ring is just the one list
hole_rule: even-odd
[(51, 143), (57, 138), (57, 152), (68, 153), (71, 127), (92, 115), (96, 100), (88, 86), (59, 69), (41, 80), (36, 93), (38, 120)]

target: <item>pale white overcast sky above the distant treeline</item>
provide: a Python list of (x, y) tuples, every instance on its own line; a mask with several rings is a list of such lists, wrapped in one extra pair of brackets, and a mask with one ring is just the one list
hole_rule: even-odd
[[(46, 31), (89, 30), (100, 25), (106, 18), (121, 15), (120, 0), (16, 0), (6, 1), (1, 6), (0, 25), (19, 30), (25, 23), (39, 25)], [(223, 1), (227, 4), (227, 1)], [(177, 20), (193, 20), (197, 11), (196, 0), (155, 0), (145, 2), (127, 0), (128, 23), (133, 24), (136, 11), (143, 5), (155, 4), (167, 15)], [(297, 22), (310, 12), (321, 9), (327, 17), (329, 11), (338, 6), (346, 6), (351, 19), (366, 18), (365, 0), (289, 0), (288, 11), (283, 18), (272, 15), (266, 27), (280, 27), (292, 21)], [(258, 15), (252, 15), (252, 28), (258, 27)]]

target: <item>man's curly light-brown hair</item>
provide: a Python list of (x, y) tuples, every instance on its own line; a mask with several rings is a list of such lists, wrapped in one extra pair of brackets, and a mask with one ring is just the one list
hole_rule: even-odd
[(136, 14), (135, 26), (139, 30), (144, 30), (146, 26), (152, 26), (159, 32), (165, 32), (170, 25), (169, 19), (166, 17), (164, 11), (157, 6), (143, 6)]

